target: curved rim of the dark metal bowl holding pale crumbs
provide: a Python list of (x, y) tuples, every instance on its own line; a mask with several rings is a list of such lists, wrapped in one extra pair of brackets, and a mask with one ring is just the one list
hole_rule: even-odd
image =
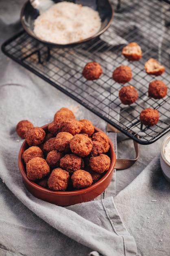
[[(53, 46), (53, 47), (70, 47), (70, 46), (78, 45), (78, 44), (81, 44), (81, 43), (85, 43), (85, 42), (87, 42), (87, 41), (89, 41), (89, 40), (92, 40), (92, 39), (94, 39), (94, 38), (100, 36), (102, 33), (104, 33), (104, 32), (110, 27), (111, 22), (113, 21), (113, 17), (114, 17), (114, 9), (113, 9), (113, 6), (112, 6), (112, 4), (111, 4), (111, 1), (110, 1), (110, 0), (107, 0), (107, 1), (108, 1), (109, 4), (110, 4), (111, 13), (112, 13), (111, 18), (110, 18), (108, 24), (107, 24), (102, 30), (100, 30), (100, 31), (98, 31), (96, 34), (94, 34), (93, 36), (90, 36), (90, 37), (85, 38), (85, 39), (83, 39), (83, 40), (79, 40), (79, 41), (72, 42), (72, 43), (57, 44), (57, 43), (52, 43), (52, 42), (44, 41), (44, 40), (41, 40), (39, 37), (37, 37), (37, 36), (35, 35), (35, 33), (34, 33), (32, 30), (28, 29), (28, 28), (26, 27), (26, 25), (25, 25), (25, 22), (24, 22), (24, 19), (23, 19), (23, 18), (24, 18), (24, 11), (25, 11), (26, 5), (29, 4), (29, 2), (30, 2), (29, 0), (27, 0), (27, 1), (24, 3), (24, 5), (23, 5), (23, 7), (22, 7), (22, 9), (21, 9), (21, 13), (20, 13), (20, 22), (21, 22), (22, 27), (24, 28), (24, 30), (25, 30), (31, 37), (33, 37), (34, 39), (38, 40), (39, 42), (41, 42), (41, 43), (43, 43), (43, 44), (45, 44), (45, 45), (47, 45), (47, 46), (51, 46), (51, 47), (52, 47), (52, 46)], [(31, 3), (30, 3), (30, 4), (31, 4)]]

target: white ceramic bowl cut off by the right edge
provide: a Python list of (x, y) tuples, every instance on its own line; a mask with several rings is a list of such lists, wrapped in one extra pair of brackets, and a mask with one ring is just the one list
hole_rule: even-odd
[(169, 141), (170, 141), (170, 135), (168, 135), (168, 137), (166, 137), (163, 140), (161, 144), (161, 153), (160, 153), (160, 164), (161, 164), (162, 173), (163, 173), (163, 176), (166, 178), (166, 180), (168, 180), (168, 182), (170, 182), (170, 162), (166, 158), (165, 147)]

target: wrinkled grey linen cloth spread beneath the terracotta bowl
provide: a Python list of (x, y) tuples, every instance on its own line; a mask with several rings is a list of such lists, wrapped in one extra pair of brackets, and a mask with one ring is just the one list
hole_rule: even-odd
[[(9, 2), (0, 2), (1, 43), (20, 28), (23, 1)], [(18, 121), (42, 126), (66, 106), (104, 131), (106, 124), (2, 53), (0, 74), (0, 255), (170, 255), (170, 184), (160, 169), (161, 140), (141, 146), (136, 164), (115, 170), (105, 193), (91, 202), (59, 207), (39, 200), (18, 170)], [(125, 146), (133, 151), (131, 140), (108, 135), (120, 155)]]

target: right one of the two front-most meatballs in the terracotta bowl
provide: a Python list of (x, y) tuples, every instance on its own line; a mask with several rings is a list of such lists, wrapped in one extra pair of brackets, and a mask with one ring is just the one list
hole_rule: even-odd
[(85, 170), (77, 170), (71, 177), (74, 189), (84, 189), (92, 185), (92, 175)]

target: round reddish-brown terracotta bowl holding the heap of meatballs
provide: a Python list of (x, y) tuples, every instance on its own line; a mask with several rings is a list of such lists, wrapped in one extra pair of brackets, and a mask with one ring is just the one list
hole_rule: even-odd
[[(46, 132), (48, 132), (48, 125), (42, 126)], [(95, 131), (101, 131), (100, 129), (94, 127)], [(29, 180), (26, 177), (26, 168), (24, 161), (22, 159), (22, 153), (29, 146), (26, 140), (23, 142), (19, 154), (18, 154), (18, 166), (20, 173), (22, 175), (24, 184), (28, 191), (34, 195), (36, 198), (44, 200), (46, 202), (50, 202), (52, 204), (56, 204), (59, 206), (68, 206), (72, 204), (78, 204), (82, 202), (90, 201), (100, 195), (111, 182), (111, 178), (113, 176), (113, 170), (116, 163), (116, 155), (114, 152), (112, 141), (109, 139), (110, 149), (108, 151), (108, 155), (111, 158), (111, 166), (109, 170), (101, 177), (101, 179), (92, 184), (91, 186), (75, 191), (52, 191), (50, 189), (46, 189), (44, 187), (39, 186), (35, 182)]]

